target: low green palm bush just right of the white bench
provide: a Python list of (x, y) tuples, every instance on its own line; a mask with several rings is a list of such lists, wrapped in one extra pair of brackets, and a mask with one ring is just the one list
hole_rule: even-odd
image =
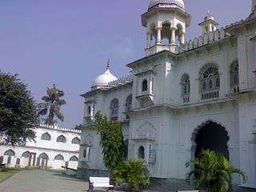
[(121, 162), (120, 165), (114, 169), (114, 178), (118, 182), (126, 182), (128, 191), (134, 191), (136, 188), (150, 185), (149, 178), (145, 173), (146, 161), (142, 158), (131, 158), (129, 161)]

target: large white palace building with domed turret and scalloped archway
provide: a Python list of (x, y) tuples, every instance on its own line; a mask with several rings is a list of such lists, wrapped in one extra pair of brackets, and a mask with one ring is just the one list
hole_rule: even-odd
[(101, 110), (122, 123), (128, 158), (145, 158), (152, 178), (184, 179), (185, 163), (210, 149), (247, 174), (245, 186), (256, 187), (255, 4), (248, 18), (219, 30), (208, 13), (202, 35), (185, 42), (191, 16), (184, 2), (152, 0), (142, 14), (145, 57), (126, 65), (126, 78), (107, 67), (82, 95), (78, 173), (106, 170), (99, 135), (90, 130)]

